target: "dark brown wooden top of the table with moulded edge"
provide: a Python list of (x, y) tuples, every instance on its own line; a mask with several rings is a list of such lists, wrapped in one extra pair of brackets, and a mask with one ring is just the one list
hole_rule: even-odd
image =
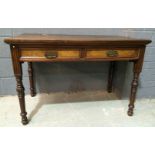
[(135, 39), (122, 36), (103, 36), (103, 35), (50, 35), (50, 34), (22, 34), (4, 40), (8, 44), (107, 44), (107, 43), (126, 43), (146, 45), (151, 42), (148, 39)]

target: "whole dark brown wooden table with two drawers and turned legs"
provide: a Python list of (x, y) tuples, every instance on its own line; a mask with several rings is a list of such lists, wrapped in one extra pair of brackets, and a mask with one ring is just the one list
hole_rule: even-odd
[(142, 70), (145, 47), (151, 40), (131, 39), (117, 36), (69, 36), (69, 35), (32, 35), (23, 34), (7, 38), (10, 44), (14, 74), (17, 81), (17, 93), (21, 109), (22, 123), (28, 123), (25, 108), (25, 94), (22, 82), (22, 63), (28, 62), (31, 96), (35, 96), (32, 62), (60, 61), (110, 61), (108, 92), (112, 91), (114, 66), (116, 61), (134, 63), (133, 81), (128, 115), (133, 115), (134, 102), (138, 86), (138, 77)]

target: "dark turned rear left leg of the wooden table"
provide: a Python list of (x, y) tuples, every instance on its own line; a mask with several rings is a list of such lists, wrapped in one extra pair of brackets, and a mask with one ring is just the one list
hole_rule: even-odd
[(28, 62), (28, 74), (29, 74), (29, 81), (30, 81), (30, 93), (31, 93), (31, 96), (33, 97), (36, 95), (36, 91), (34, 87), (32, 62)]

